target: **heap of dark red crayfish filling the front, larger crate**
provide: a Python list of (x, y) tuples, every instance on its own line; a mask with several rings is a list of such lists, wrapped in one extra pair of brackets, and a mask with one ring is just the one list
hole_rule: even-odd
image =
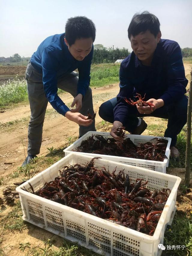
[(125, 169), (116, 167), (110, 173), (104, 166), (94, 167), (95, 158), (84, 166), (64, 166), (55, 180), (38, 191), (29, 183), (31, 193), (153, 235), (170, 189), (151, 192), (145, 187), (148, 181), (131, 182)]

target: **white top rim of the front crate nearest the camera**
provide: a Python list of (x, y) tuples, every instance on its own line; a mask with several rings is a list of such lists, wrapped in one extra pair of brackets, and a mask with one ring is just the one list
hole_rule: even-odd
[[(61, 163), (63, 160), (67, 160), (67, 159), (70, 159), (71, 157), (73, 157), (73, 155), (75, 155), (75, 156), (79, 156), (79, 155), (77, 155), (76, 153), (70, 153), (70, 154), (68, 154), (67, 156), (65, 156), (64, 158), (62, 158), (61, 160), (59, 160), (58, 162), (56, 162), (55, 164), (53, 164), (51, 167), (56, 167), (59, 163)], [(87, 157), (87, 158), (90, 158), (90, 159), (92, 159), (92, 157), (90, 157), (90, 156), (88, 156), (88, 155), (82, 155), (82, 157)], [(96, 159), (96, 160), (101, 160), (101, 161), (104, 161), (104, 162), (113, 162), (113, 164), (114, 164), (114, 161), (110, 161), (110, 160), (107, 160), (107, 159)], [(138, 167), (136, 167), (136, 166), (132, 166), (132, 165), (128, 165), (128, 164), (123, 164), (123, 163), (117, 163), (118, 165), (122, 165), (123, 167), (131, 167), (131, 168), (134, 168), (134, 169), (137, 169), (137, 171), (138, 171)], [(44, 170), (44, 171), (42, 171), (41, 173), (38, 173), (37, 175), (35, 175), (34, 177), (32, 177), (31, 179), (29, 179), (28, 181), (26, 181), (26, 182), (24, 182), (23, 184), (21, 184), (21, 185), (19, 185), (17, 188), (16, 188), (16, 191), (17, 192), (19, 192), (19, 194), (23, 194), (23, 195), (25, 195), (25, 196), (29, 196), (29, 193), (30, 192), (27, 192), (27, 191), (25, 191), (25, 190), (22, 190), (22, 187), (24, 187), (25, 185), (29, 185), (28, 184), (28, 182), (30, 182), (30, 180), (32, 180), (32, 179), (37, 179), (38, 177), (40, 177), (40, 176), (42, 176), (45, 172), (47, 172), (49, 169), (51, 169), (51, 167), (48, 167), (48, 168), (46, 168), (46, 170)], [(149, 169), (145, 169), (145, 168), (139, 168), (140, 170), (142, 170), (144, 173), (148, 173), (148, 174), (157, 174), (157, 172), (155, 172), (155, 171), (153, 171), (153, 170), (149, 170)], [(172, 181), (173, 181), (173, 179), (175, 179), (175, 184), (174, 184), (174, 187), (173, 187), (173, 189), (175, 190), (175, 191), (173, 191), (173, 189), (172, 189), (172, 191), (171, 191), (171, 193), (170, 193), (170, 195), (169, 195), (169, 198), (168, 198), (168, 200), (167, 200), (167, 202), (166, 202), (166, 204), (165, 204), (165, 206), (164, 206), (164, 210), (163, 210), (163, 212), (162, 212), (162, 214), (161, 214), (161, 217), (160, 217), (160, 219), (159, 219), (159, 222), (158, 222), (158, 225), (157, 225), (157, 227), (158, 226), (162, 226), (163, 224), (164, 224), (164, 221), (165, 221), (165, 217), (166, 217), (166, 215), (167, 215), (167, 212), (169, 211), (169, 208), (167, 207), (168, 206), (168, 203), (170, 203), (170, 205), (173, 205), (173, 202), (174, 202), (174, 200), (173, 200), (173, 195), (174, 195), (174, 192), (176, 192), (176, 190), (178, 189), (178, 186), (179, 186), (179, 183), (181, 182), (181, 178), (180, 177), (178, 177), (178, 176), (173, 176), (173, 175), (170, 175), (170, 174), (167, 174), (167, 173), (160, 173), (160, 172), (158, 172), (158, 177), (159, 178), (169, 178), (169, 179), (172, 179)], [(104, 220), (104, 219), (102, 219), (102, 218), (99, 218), (99, 217), (96, 217), (96, 216), (92, 216), (91, 214), (88, 214), (88, 213), (86, 213), (86, 212), (82, 212), (82, 211), (80, 211), (80, 210), (77, 210), (77, 209), (74, 209), (74, 208), (72, 208), (72, 207), (69, 207), (69, 206), (65, 206), (65, 205), (62, 205), (62, 204), (60, 204), (60, 203), (56, 203), (56, 202), (53, 202), (53, 201), (50, 201), (50, 200), (48, 200), (48, 199), (46, 199), (46, 198), (43, 198), (43, 197), (40, 197), (40, 196), (38, 196), (38, 195), (35, 195), (35, 194), (32, 194), (32, 193), (30, 193), (30, 197), (31, 198), (33, 198), (34, 200), (36, 200), (36, 201), (38, 201), (39, 203), (46, 203), (46, 204), (48, 204), (50, 207), (51, 206), (54, 206), (54, 207), (56, 207), (58, 210), (59, 209), (70, 209), (70, 211), (71, 212), (74, 212), (74, 213), (76, 213), (76, 214), (78, 214), (78, 215), (83, 215), (83, 216), (85, 216), (85, 218), (86, 219), (92, 219), (93, 217), (94, 217), (94, 219), (95, 218), (97, 218), (97, 220), (98, 221), (100, 221), (101, 222), (101, 224), (102, 223), (104, 223), (105, 225), (107, 225), (107, 226), (109, 226), (110, 228), (113, 228), (114, 227), (114, 224), (115, 225), (117, 225), (116, 227), (120, 230), (120, 231), (122, 231), (122, 232), (125, 232), (128, 228), (127, 227), (123, 227), (123, 226), (121, 226), (121, 225), (119, 225), (119, 224), (116, 224), (116, 223), (112, 223), (112, 222), (110, 222), (110, 221), (107, 221), (107, 220)], [(46, 200), (46, 201), (45, 201)], [(166, 206), (167, 205), (167, 206)], [(175, 203), (174, 203), (174, 205), (175, 205)], [(173, 206), (174, 207), (174, 206)], [(103, 222), (104, 221), (104, 222)], [(131, 229), (129, 229), (129, 231), (131, 231), (131, 232), (133, 232), (133, 235), (134, 236), (137, 236), (137, 237), (139, 237), (140, 239), (143, 239), (143, 236), (145, 235), (145, 239), (151, 244), (151, 243), (153, 243), (153, 241), (155, 241), (155, 240), (157, 240), (159, 237), (160, 237), (160, 234), (161, 234), (161, 230), (160, 229), (158, 229), (156, 227), (156, 229), (155, 229), (155, 232), (154, 232), (154, 235), (153, 236), (149, 236), (149, 235), (147, 235), (147, 234), (143, 234), (143, 233), (141, 233), (141, 232), (139, 232), (139, 231), (136, 231), (136, 230), (131, 230)]]

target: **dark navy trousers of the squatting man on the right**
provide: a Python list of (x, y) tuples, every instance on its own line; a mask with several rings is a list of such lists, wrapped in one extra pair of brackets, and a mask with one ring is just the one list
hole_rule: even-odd
[[(117, 98), (113, 98), (101, 104), (99, 108), (99, 116), (105, 121), (113, 123), (113, 109), (116, 103)], [(187, 103), (188, 98), (184, 95), (179, 101), (176, 101), (168, 106), (160, 107), (149, 115), (140, 114), (137, 111), (136, 106), (128, 105), (128, 118), (127, 122), (124, 124), (125, 130), (131, 133), (136, 129), (139, 121), (137, 117), (154, 116), (168, 119), (167, 129), (164, 137), (170, 137), (172, 139), (171, 146), (175, 146), (177, 134), (180, 133), (183, 126), (187, 122)]]

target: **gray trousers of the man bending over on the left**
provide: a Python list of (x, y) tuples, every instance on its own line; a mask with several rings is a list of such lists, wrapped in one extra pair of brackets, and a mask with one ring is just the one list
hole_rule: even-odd
[[(26, 69), (27, 91), (29, 95), (29, 104), (31, 109), (31, 119), (28, 129), (28, 155), (38, 155), (41, 148), (43, 123), (48, 104), (43, 89), (42, 74), (38, 73), (29, 63)], [(69, 92), (73, 98), (77, 93), (78, 77), (76, 72), (58, 77), (58, 88)], [(82, 115), (87, 115), (87, 110), (93, 114), (92, 92), (89, 87), (82, 100), (82, 108), (79, 111)], [(65, 117), (64, 117), (65, 118)], [(95, 130), (95, 120), (88, 126), (79, 125), (79, 136), (84, 135), (88, 131)]]

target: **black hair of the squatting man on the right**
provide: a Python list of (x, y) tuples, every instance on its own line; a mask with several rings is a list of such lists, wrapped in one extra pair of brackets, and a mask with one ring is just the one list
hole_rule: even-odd
[(144, 11), (141, 14), (134, 14), (128, 27), (129, 40), (131, 35), (136, 36), (141, 32), (146, 32), (147, 30), (149, 30), (155, 37), (158, 35), (160, 31), (160, 23), (158, 18), (148, 11)]

